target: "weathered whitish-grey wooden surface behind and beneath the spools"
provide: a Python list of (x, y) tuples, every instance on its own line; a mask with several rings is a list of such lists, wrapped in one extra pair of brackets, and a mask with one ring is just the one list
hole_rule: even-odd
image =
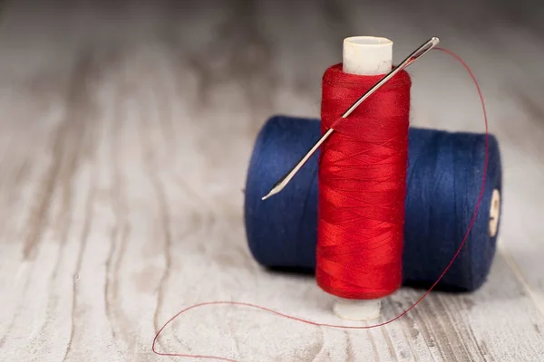
[[(434, 293), (381, 329), (191, 311), (158, 348), (243, 361), (544, 360), (544, 45), (539, 2), (4, 1), (0, 360), (160, 361), (156, 329), (206, 300), (338, 322), (309, 277), (254, 262), (241, 189), (268, 116), (317, 116), (345, 36), (428, 37), (471, 64), (504, 163), (500, 252), (481, 291)], [(414, 64), (413, 124), (482, 130), (470, 79)], [(384, 303), (384, 318), (421, 291)], [(178, 358), (180, 360), (180, 358)]]

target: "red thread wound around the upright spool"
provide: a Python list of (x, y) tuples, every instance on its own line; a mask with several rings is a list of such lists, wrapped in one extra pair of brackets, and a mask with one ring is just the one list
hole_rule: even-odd
[(410, 76), (401, 71), (350, 116), (345, 110), (383, 77), (325, 71), (316, 280), (342, 298), (374, 299), (401, 287)]

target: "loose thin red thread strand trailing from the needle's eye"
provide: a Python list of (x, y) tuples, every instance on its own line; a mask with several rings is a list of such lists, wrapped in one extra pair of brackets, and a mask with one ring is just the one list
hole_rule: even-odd
[[(261, 306), (258, 306), (256, 304), (244, 303), (244, 302), (238, 302), (238, 301), (209, 301), (209, 302), (203, 302), (203, 303), (192, 305), (192, 306), (190, 306), (190, 307), (188, 307), (188, 308), (186, 308), (184, 310), (180, 310), (180, 312), (178, 314), (176, 314), (175, 316), (170, 318), (166, 323), (164, 323), (164, 325), (159, 329), (159, 331), (155, 335), (155, 338), (153, 338), (153, 343), (152, 343), (151, 349), (155, 354), (160, 355), (160, 356), (170, 356), (170, 357), (209, 358), (209, 359), (217, 359), (217, 360), (228, 361), (228, 362), (238, 362), (238, 360), (236, 360), (236, 359), (231, 359), (231, 358), (226, 358), (226, 357), (190, 355), (190, 354), (168, 353), (168, 352), (158, 352), (157, 351), (155, 346), (156, 346), (156, 343), (157, 343), (157, 341), (159, 339), (160, 332), (163, 329), (165, 329), (166, 326), (168, 326), (172, 320), (178, 318), (184, 312), (186, 312), (188, 310), (193, 310), (193, 309), (196, 309), (196, 308), (199, 308), (199, 307), (204, 307), (204, 306), (209, 306), (209, 305), (218, 305), (218, 304), (236, 305), (236, 306), (250, 307), (250, 308), (257, 309), (257, 310), (264, 310), (264, 311), (267, 311), (267, 312), (270, 312), (270, 313), (274, 313), (274, 314), (276, 314), (278, 316), (285, 317), (287, 319), (294, 319), (294, 320), (297, 320), (299, 322), (306, 323), (306, 324), (313, 325), (313, 326), (317, 326), (317, 327), (328, 327), (328, 328), (334, 328), (334, 329), (374, 329), (374, 328), (377, 328), (377, 327), (382, 327), (382, 326), (385, 326), (387, 324), (390, 324), (393, 321), (395, 321), (396, 319), (400, 319), (405, 314), (407, 314), (410, 310), (413, 310), (413, 308), (415, 308), (415, 306), (417, 306), (425, 297), (427, 297), (427, 295), (429, 295), (429, 293), (434, 289), (434, 287), (436, 287), (436, 285), (442, 280), (445, 273), (450, 269), (450, 267), (452, 267), (453, 262), (455, 262), (455, 259), (457, 259), (457, 256), (461, 252), (462, 247), (466, 243), (466, 241), (467, 241), (467, 239), (469, 237), (469, 234), (471, 233), (471, 229), (472, 229), (472, 226), (473, 226), (474, 222), (476, 221), (476, 216), (478, 215), (478, 210), (480, 209), (481, 200), (483, 198), (483, 193), (485, 191), (485, 180), (486, 180), (486, 176), (487, 176), (488, 158), (489, 158), (488, 118), (487, 118), (487, 111), (485, 109), (485, 103), (483, 101), (483, 94), (481, 93), (480, 85), (478, 84), (478, 81), (476, 81), (476, 77), (472, 73), (469, 66), (465, 62), (463, 62), (461, 60), (461, 58), (457, 54), (455, 54), (453, 52), (450, 52), (448, 50), (442, 49), (442, 48), (435, 48), (435, 49), (439, 50), (439, 51), (442, 51), (442, 52), (446, 52), (446, 53), (452, 55), (453, 58), (455, 58), (458, 62), (460, 62), (461, 65), (465, 68), (465, 70), (469, 73), (469, 75), (471, 76), (472, 81), (476, 85), (476, 89), (478, 90), (478, 95), (479, 95), (480, 100), (481, 100), (481, 108), (483, 110), (483, 120), (484, 120), (484, 124), (485, 124), (485, 157), (484, 157), (484, 165), (483, 165), (483, 176), (481, 177), (480, 195), (478, 196), (478, 201), (476, 202), (476, 206), (474, 207), (474, 213), (472, 214), (471, 222), (470, 222), (470, 224), (469, 224), (469, 226), (467, 228), (467, 232), (464, 234), (464, 236), (462, 238), (462, 241), (461, 241), (461, 243), (459, 245), (459, 248), (457, 249), (455, 254), (453, 254), (452, 260), (444, 268), (444, 270), (442, 271), (442, 273), (440, 274), (438, 279), (436, 281), (434, 281), (431, 288), (429, 288), (428, 291), (425, 291), (423, 293), (423, 295), (418, 300), (416, 300), (413, 303), (412, 306), (410, 306), (410, 308), (408, 308), (407, 310), (404, 310), (401, 314), (399, 314), (395, 318), (389, 319), (389, 320), (386, 320), (386, 321), (384, 321), (382, 323), (374, 324), (374, 325), (371, 325), (371, 326), (340, 326), (340, 325), (334, 325), (334, 324), (317, 323), (317, 322), (314, 322), (312, 320), (299, 319), (299, 318), (296, 318), (296, 317), (293, 317), (293, 316), (289, 316), (287, 314), (280, 313), (280, 312), (278, 312), (276, 310), (270, 310), (270, 309), (268, 309), (266, 307), (261, 307)], [(335, 125), (335, 127), (336, 127), (336, 125)]]

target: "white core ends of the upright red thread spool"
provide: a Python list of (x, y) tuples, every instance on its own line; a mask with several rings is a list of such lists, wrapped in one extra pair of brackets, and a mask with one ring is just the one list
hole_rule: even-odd
[[(392, 69), (393, 42), (374, 36), (344, 39), (343, 71), (359, 75), (386, 74)], [(351, 300), (337, 298), (335, 315), (343, 319), (368, 320), (380, 317), (382, 299)]]

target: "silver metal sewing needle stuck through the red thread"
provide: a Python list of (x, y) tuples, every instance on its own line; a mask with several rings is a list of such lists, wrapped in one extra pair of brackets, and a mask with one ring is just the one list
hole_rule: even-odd
[[(375, 83), (374, 86), (370, 90), (368, 90), (366, 93), (364, 93), (363, 96), (361, 96), (361, 98), (359, 98), (357, 101), (355, 101), (355, 103), (348, 110), (345, 111), (345, 113), (342, 115), (342, 118), (343, 119), (347, 118), (350, 114), (352, 114), (352, 112), (357, 107), (359, 107), (359, 105), (361, 103), (364, 102), (364, 100), (366, 100), (368, 97), (370, 97), (374, 93), (374, 91), (378, 90), (381, 86), (384, 85), (385, 82), (387, 82), (391, 78), (393, 78), (393, 76), (396, 73), (398, 73), (399, 71), (402, 71), (408, 65), (412, 64), (414, 61), (421, 58), (427, 52), (431, 51), (432, 48), (434, 48), (436, 45), (438, 45), (438, 43), (440, 43), (440, 39), (437, 38), (437, 37), (432, 37), (426, 43), (423, 43), (422, 46), (417, 48), (412, 54), (408, 55), (408, 57), (406, 59), (404, 59), (403, 62), (401, 62), (397, 67), (393, 68), (392, 71), (388, 72), (384, 76), (384, 78), (382, 78), (380, 81)], [(312, 155), (314, 155), (314, 153), (316, 153), (317, 148), (319, 148), (323, 144), (323, 142), (325, 142), (325, 140), (327, 138), (329, 138), (330, 135), (333, 134), (334, 131), (335, 131), (335, 129), (328, 129), (325, 132), (325, 134), (321, 138), (319, 138), (319, 140), (316, 142), (316, 144), (306, 153), (306, 155), (304, 157), (302, 157), (300, 159), (300, 161), (298, 161), (296, 166), (291, 168), (291, 170), (287, 173), (287, 175), (283, 176), (279, 181), (277, 181), (276, 185), (274, 185), (274, 187), (272, 187), (272, 189), (268, 192), (268, 194), (262, 197), (262, 200), (266, 200), (268, 197), (270, 197), (272, 195), (276, 195), (281, 190), (283, 190), (284, 187), (287, 186), (289, 181), (291, 181), (291, 179), (296, 175), (298, 170), (300, 170), (300, 168), (302, 168), (304, 166), (304, 164), (306, 164), (306, 161), (310, 157), (312, 157)]]

